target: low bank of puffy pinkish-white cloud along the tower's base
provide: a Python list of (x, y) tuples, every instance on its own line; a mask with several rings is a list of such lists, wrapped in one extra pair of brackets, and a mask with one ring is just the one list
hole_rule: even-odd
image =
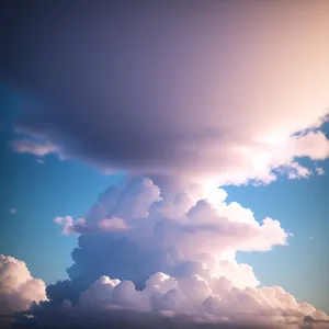
[[(329, 317), (307, 303), (298, 303), (279, 286), (236, 287), (225, 276), (207, 280), (192, 275), (175, 280), (155, 273), (141, 291), (133, 282), (102, 276), (81, 294), (80, 306), (97, 309), (123, 307), (143, 311), (185, 314), (232, 325), (296, 328), (290, 322), (304, 324), (305, 317), (328, 326)], [(298, 327), (299, 328), (299, 327)]]

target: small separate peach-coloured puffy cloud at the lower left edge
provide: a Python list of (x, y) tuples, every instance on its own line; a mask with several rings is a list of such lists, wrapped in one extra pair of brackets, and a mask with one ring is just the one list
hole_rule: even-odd
[(33, 279), (23, 261), (0, 254), (0, 316), (26, 310), (41, 300), (46, 300), (45, 283)]

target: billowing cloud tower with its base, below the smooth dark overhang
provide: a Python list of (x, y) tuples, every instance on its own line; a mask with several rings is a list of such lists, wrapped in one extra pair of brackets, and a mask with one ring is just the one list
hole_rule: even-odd
[(19, 316), (18, 324), (304, 328), (313, 319), (313, 326), (328, 325), (325, 313), (282, 287), (260, 287), (252, 268), (235, 258), (237, 251), (285, 246), (291, 234), (277, 220), (259, 223), (213, 185), (173, 193), (155, 181), (135, 178), (110, 186), (83, 218), (55, 219), (66, 234), (79, 234), (69, 280), (49, 285), (49, 302), (32, 307), (29, 318)]

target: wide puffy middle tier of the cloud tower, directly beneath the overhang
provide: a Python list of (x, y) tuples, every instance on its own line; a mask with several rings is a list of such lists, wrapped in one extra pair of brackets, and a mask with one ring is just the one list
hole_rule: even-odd
[(202, 253), (226, 258), (238, 250), (266, 251), (286, 245), (288, 234), (279, 220), (266, 217), (259, 223), (250, 209), (226, 203), (226, 195), (222, 189), (192, 185), (163, 198), (150, 179), (135, 179), (122, 190), (102, 194), (86, 218), (54, 220), (63, 225), (65, 235), (122, 231), (141, 245), (178, 249), (186, 259)]

